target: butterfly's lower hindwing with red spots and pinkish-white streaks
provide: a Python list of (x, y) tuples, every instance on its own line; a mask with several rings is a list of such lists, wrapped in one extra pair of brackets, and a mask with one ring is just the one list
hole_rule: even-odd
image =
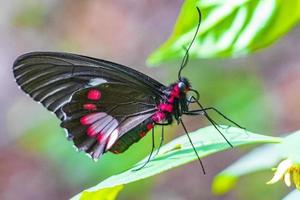
[(150, 119), (156, 104), (155, 96), (140, 89), (103, 83), (72, 95), (62, 107), (66, 117), (61, 126), (79, 150), (97, 159), (120, 137)]

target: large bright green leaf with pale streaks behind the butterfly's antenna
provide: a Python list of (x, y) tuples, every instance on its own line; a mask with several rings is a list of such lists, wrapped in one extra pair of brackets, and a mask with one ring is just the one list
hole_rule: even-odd
[(238, 57), (264, 48), (300, 19), (300, 0), (186, 0), (173, 33), (147, 63), (182, 59), (195, 34), (198, 6), (202, 22), (192, 58)]

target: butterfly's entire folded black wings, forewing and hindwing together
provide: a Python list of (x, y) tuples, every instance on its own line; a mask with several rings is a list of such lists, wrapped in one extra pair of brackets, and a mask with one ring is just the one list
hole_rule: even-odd
[(54, 112), (94, 159), (149, 120), (166, 88), (126, 66), (68, 53), (25, 54), (13, 70), (21, 89)]

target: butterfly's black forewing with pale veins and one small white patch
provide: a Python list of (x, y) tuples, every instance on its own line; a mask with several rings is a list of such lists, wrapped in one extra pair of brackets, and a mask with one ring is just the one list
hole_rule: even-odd
[(62, 106), (75, 91), (104, 82), (125, 83), (161, 97), (166, 88), (158, 81), (126, 66), (96, 58), (56, 52), (33, 52), (20, 56), (13, 65), (17, 83), (61, 120)]

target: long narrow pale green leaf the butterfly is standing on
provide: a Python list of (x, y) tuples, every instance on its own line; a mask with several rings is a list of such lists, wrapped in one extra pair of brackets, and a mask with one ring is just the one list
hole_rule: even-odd
[[(274, 143), (281, 141), (280, 138), (254, 134), (239, 128), (226, 127), (222, 130), (226, 138), (235, 147), (246, 144)], [(230, 146), (213, 126), (201, 128), (190, 133), (190, 136), (200, 157), (205, 157), (230, 148)], [(138, 171), (133, 171), (133, 169), (138, 168), (141, 164), (146, 162), (147, 159), (148, 158), (146, 157), (132, 169), (129, 169), (121, 174), (111, 176), (95, 187), (89, 188), (86, 191), (97, 192), (103, 189), (113, 188), (118, 185), (124, 185), (145, 179), (196, 160), (197, 157), (191, 147), (191, 144), (189, 143), (189, 140), (185, 135), (183, 135), (164, 145), (159, 154), (155, 158), (152, 158), (151, 162), (148, 163), (144, 168)], [(82, 193), (78, 194), (76, 198), (79, 198), (81, 195)]]

